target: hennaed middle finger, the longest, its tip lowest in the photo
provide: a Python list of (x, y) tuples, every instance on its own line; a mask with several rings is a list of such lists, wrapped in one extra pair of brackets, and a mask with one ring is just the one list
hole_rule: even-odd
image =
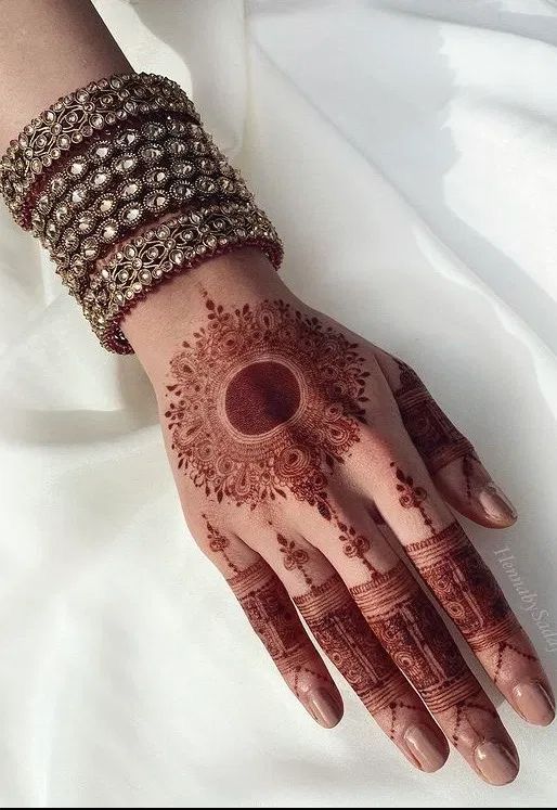
[(313, 518), (312, 542), (461, 755), (485, 781), (510, 782), (516, 748), (440, 615), (355, 500), (345, 493), (334, 512), (328, 526)]

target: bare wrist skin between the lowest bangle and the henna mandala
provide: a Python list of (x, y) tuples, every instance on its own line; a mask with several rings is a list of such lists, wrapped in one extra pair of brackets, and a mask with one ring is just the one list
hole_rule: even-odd
[(241, 304), (290, 295), (260, 250), (238, 248), (152, 290), (124, 318), (121, 330), (156, 386), (177, 345), (205, 318), (207, 299)]

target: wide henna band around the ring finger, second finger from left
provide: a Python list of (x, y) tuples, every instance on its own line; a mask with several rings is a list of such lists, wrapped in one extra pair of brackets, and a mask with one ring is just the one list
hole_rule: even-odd
[(370, 632), (348, 589), (329, 579), (294, 603), (333, 664), (372, 712), (393, 704), (407, 686), (377, 639)]

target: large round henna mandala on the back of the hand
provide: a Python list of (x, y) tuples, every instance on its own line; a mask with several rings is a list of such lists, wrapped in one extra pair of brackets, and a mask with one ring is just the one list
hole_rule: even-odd
[(179, 468), (219, 502), (255, 509), (288, 490), (329, 519), (327, 471), (365, 423), (358, 344), (282, 300), (206, 307), (207, 325), (170, 362)]

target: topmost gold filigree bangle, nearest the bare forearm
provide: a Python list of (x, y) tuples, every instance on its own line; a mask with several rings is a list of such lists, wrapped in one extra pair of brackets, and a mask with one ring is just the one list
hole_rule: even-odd
[(129, 118), (157, 113), (199, 123), (180, 86), (154, 74), (118, 74), (60, 99), (11, 141), (0, 162), (0, 192), (14, 219), (23, 228), (30, 227), (25, 206), (30, 187), (73, 145)]

